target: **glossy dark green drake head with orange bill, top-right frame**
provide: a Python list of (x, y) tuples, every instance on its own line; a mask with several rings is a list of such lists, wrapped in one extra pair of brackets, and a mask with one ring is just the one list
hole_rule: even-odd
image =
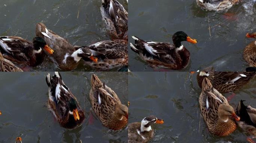
[(173, 44), (176, 48), (180, 48), (180, 50), (183, 48), (183, 45), (181, 44), (182, 41), (188, 41), (191, 43), (197, 43), (196, 39), (190, 38), (185, 32), (179, 31), (173, 34)]

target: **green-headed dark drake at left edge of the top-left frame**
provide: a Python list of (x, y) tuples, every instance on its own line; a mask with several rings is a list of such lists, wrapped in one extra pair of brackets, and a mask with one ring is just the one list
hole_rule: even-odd
[(17, 36), (0, 37), (1, 53), (14, 63), (38, 66), (46, 57), (42, 48), (49, 54), (54, 52), (41, 37), (33, 38), (33, 43)]

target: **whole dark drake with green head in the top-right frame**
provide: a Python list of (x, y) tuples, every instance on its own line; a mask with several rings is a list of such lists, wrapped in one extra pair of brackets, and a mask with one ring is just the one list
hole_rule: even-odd
[(135, 45), (130, 43), (132, 51), (140, 55), (142, 60), (147, 61), (152, 68), (172, 70), (185, 69), (189, 63), (190, 53), (181, 42), (197, 43), (196, 39), (190, 38), (183, 31), (173, 35), (173, 44), (144, 41), (136, 36), (132, 36), (132, 38), (135, 40)]

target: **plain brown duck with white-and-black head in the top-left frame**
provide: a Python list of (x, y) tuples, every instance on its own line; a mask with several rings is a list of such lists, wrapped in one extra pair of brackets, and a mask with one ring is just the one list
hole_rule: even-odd
[(41, 22), (36, 24), (36, 35), (45, 39), (46, 43), (54, 49), (55, 53), (52, 54), (51, 59), (61, 70), (75, 69), (82, 58), (88, 58), (94, 62), (98, 60), (89, 49), (71, 45), (66, 39), (48, 30)]

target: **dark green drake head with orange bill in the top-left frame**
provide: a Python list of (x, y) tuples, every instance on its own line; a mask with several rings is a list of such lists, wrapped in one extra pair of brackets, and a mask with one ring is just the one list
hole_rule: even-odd
[(53, 54), (54, 50), (52, 50), (45, 42), (45, 39), (42, 37), (35, 37), (33, 38), (33, 45), (34, 45), (34, 53), (41, 53), (42, 48), (44, 48), (49, 54)]

